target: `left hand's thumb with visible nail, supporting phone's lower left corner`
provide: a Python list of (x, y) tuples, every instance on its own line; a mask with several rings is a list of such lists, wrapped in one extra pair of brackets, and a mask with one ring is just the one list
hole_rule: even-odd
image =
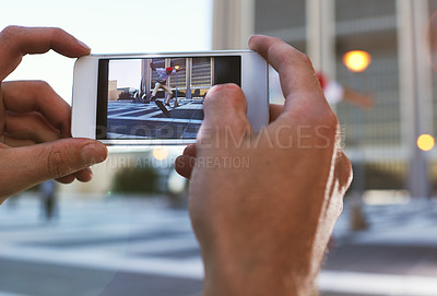
[(102, 163), (107, 149), (87, 139), (66, 139), (26, 147), (5, 149), (0, 156), (0, 197), (48, 179), (61, 178)]

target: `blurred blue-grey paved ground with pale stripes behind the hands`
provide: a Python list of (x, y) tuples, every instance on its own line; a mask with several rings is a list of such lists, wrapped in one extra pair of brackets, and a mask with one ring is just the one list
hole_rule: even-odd
[[(186, 210), (161, 198), (62, 200), (46, 222), (35, 194), (0, 208), (0, 296), (200, 295), (202, 263)], [(319, 286), (324, 296), (437, 295), (437, 210), (345, 209)]]

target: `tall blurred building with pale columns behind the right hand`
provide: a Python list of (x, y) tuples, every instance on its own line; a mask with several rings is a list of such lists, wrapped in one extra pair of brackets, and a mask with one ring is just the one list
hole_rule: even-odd
[[(245, 48), (252, 33), (275, 36), (308, 54), (316, 70), (374, 94), (367, 111), (333, 106), (356, 166), (356, 189), (406, 188), (429, 197), (437, 183), (436, 152), (420, 150), (416, 141), (437, 128), (437, 59), (430, 55), (437, 49), (436, 11), (437, 0), (215, 0), (213, 45)], [(225, 15), (235, 20), (218, 22)], [(221, 43), (225, 35), (232, 36)], [(370, 54), (366, 71), (343, 64), (350, 50)]]

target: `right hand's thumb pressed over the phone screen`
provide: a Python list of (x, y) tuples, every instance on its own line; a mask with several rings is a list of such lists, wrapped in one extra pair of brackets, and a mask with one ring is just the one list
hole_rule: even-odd
[[(212, 87), (203, 103), (204, 119), (198, 141), (210, 139), (227, 143), (227, 138), (241, 140), (251, 132), (247, 119), (247, 102), (241, 88), (236, 84), (223, 84)], [(225, 139), (223, 139), (225, 138)]]

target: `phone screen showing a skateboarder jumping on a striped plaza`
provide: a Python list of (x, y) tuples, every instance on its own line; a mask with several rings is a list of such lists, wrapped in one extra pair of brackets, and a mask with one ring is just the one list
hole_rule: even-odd
[(196, 139), (223, 83), (241, 86), (240, 56), (101, 59), (96, 139)]

